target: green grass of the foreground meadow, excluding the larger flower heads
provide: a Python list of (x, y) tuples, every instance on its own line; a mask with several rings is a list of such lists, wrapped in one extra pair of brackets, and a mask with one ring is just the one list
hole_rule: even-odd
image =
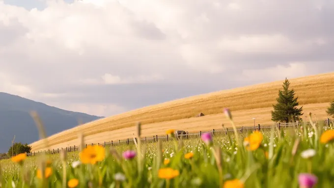
[[(102, 162), (81, 164), (77, 168), (73, 168), (72, 163), (80, 161), (79, 152), (70, 152), (65, 162), (66, 181), (78, 179), (78, 188), (219, 188), (228, 180), (238, 179), (245, 188), (299, 188), (298, 176), (306, 172), (317, 176), (318, 188), (329, 188), (334, 185), (334, 143), (323, 144), (316, 138), (317, 132), (320, 137), (328, 129), (332, 127), (319, 124), (315, 130), (312, 126), (261, 130), (263, 141), (255, 151), (236, 145), (233, 133), (214, 136), (212, 145), (206, 145), (198, 138), (142, 143), (140, 151), (146, 151), (144, 157), (137, 155), (132, 160), (118, 161), (106, 147)], [(243, 141), (250, 133), (239, 135), (240, 140)], [(298, 147), (294, 147), (298, 139)], [(136, 145), (112, 148), (121, 158), (125, 150), (137, 151)], [(217, 148), (221, 151), (215, 152)], [(301, 153), (310, 148), (316, 151), (315, 156), (304, 159)], [(192, 159), (184, 158), (188, 152), (194, 153)], [(265, 152), (269, 153), (269, 159)], [(62, 188), (64, 173), (59, 155), (46, 156), (53, 162), (53, 173), (44, 181), (36, 177), (36, 170), (43, 160), (40, 157), (43, 156), (28, 157), (22, 168), (10, 160), (1, 160), (0, 187)], [(170, 159), (167, 165), (163, 163), (165, 158)], [(165, 167), (179, 170), (179, 175), (170, 180), (159, 178), (158, 170)], [(119, 172), (124, 174), (124, 181), (115, 181), (114, 175)]]

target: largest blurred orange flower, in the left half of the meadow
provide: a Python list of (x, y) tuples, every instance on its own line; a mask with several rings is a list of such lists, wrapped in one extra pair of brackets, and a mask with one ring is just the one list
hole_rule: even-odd
[(95, 164), (102, 161), (105, 157), (105, 148), (100, 145), (88, 145), (79, 154), (80, 160), (83, 164)]

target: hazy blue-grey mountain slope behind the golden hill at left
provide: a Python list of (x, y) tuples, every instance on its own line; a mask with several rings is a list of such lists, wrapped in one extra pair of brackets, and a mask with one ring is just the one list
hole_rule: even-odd
[(47, 136), (99, 118), (48, 106), (17, 95), (0, 92), (0, 153), (7, 152), (15, 135), (15, 142), (31, 143), (39, 140), (38, 130), (29, 112), (41, 118)]

